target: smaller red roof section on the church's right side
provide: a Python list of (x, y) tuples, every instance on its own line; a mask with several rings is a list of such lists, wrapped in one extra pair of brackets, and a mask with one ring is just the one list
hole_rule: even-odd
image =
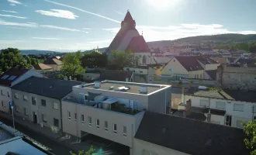
[(131, 50), (133, 53), (150, 53), (150, 48), (147, 46), (143, 36), (134, 36), (126, 50)]

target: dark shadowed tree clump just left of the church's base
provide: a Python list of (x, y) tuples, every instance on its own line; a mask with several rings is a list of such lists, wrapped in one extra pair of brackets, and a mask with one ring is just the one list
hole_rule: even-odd
[(106, 67), (108, 62), (108, 56), (106, 53), (100, 53), (93, 51), (92, 53), (85, 53), (81, 57), (81, 65), (83, 67), (97, 68), (97, 67)]

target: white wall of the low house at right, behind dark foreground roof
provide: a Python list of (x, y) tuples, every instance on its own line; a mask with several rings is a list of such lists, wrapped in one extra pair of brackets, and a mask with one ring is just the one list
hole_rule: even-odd
[[(202, 97), (195, 97), (195, 96), (188, 96), (188, 95), (185, 95), (185, 98), (191, 99), (192, 106), (201, 107), (201, 108), (202, 108), (202, 106), (200, 105), (201, 99), (208, 100), (210, 108), (216, 108), (216, 102), (225, 102), (226, 108), (223, 110), (226, 110), (226, 115), (224, 115), (224, 119), (226, 118), (227, 115), (231, 115), (232, 116), (231, 126), (233, 127), (237, 127), (237, 121), (240, 121), (240, 120), (245, 122), (251, 121), (253, 117), (252, 106), (253, 105), (256, 106), (256, 103), (252, 103), (252, 102), (229, 101), (229, 100), (223, 100), (223, 99), (202, 98)], [(234, 104), (244, 105), (244, 112), (234, 111)], [(213, 120), (213, 119), (216, 119), (216, 120)], [(224, 123), (221, 117), (219, 118), (212, 117), (212, 121), (219, 121), (220, 124), (222, 125)]]

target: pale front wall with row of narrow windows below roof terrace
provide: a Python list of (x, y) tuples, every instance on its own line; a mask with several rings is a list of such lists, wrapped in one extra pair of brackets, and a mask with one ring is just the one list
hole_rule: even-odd
[[(71, 119), (68, 119), (68, 112), (71, 112)], [(78, 115), (77, 121), (74, 120), (74, 113)], [(83, 131), (132, 147), (133, 136), (137, 131), (138, 122), (142, 119), (143, 113), (128, 115), (62, 101), (63, 131), (78, 137), (82, 136), (81, 131)], [(81, 115), (84, 115), (84, 123), (81, 122)], [(92, 126), (88, 125), (88, 116), (92, 117)], [(99, 119), (99, 128), (96, 126), (96, 119)], [(105, 121), (108, 122), (108, 131), (105, 130)], [(113, 123), (117, 125), (117, 133), (113, 132)], [(126, 126), (126, 136), (123, 136), (123, 126)]]

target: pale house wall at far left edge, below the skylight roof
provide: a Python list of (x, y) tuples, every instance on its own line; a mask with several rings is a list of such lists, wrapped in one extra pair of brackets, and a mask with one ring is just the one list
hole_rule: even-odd
[[(0, 85), (0, 90), (2, 90), (3, 95), (0, 94), (0, 111), (9, 113), (9, 102), (12, 101), (12, 91), (11, 88), (5, 87)], [(9, 97), (8, 97), (8, 92), (9, 91)], [(2, 102), (4, 106), (2, 106)]]

